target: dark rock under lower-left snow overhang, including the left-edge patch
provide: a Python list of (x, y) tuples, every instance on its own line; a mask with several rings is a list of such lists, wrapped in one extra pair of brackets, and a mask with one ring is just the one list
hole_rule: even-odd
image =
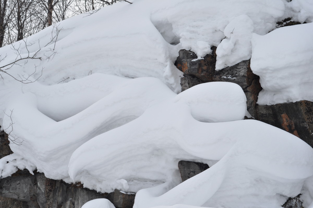
[[(0, 132), (1, 158), (13, 152), (9, 147), (8, 134)], [(131, 208), (135, 194), (115, 190), (113, 193), (98, 193), (83, 188), (83, 185), (67, 184), (62, 180), (46, 178), (43, 173), (19, 170), (0, 180), (0, 207), (10, 208), (80, 208), (87, 201), (107, 198), (116, 208)]]

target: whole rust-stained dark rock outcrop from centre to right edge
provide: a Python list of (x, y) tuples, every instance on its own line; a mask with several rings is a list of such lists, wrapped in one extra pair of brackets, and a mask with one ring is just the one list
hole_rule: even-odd
[[(291, 24), (290, 18), (280, 25)], [(182, 91), (205, 82), (233, 82), (241, 86), (247, 97), (247, 110), (250, 115), (264, 123), (271, 124), (294, 134), (313, 147), (313, 104), (310, 101), (283, 103), (270, 106), (257, 105), (262, 89), (259, 77), (253, 74), (250, 61), (242, 61), (231, 67), (215, 71), (216, 47), (212, 54), (197, 59), (192, 51), (180, 50), (175, 65), (184, 73), (181, 79)]]

